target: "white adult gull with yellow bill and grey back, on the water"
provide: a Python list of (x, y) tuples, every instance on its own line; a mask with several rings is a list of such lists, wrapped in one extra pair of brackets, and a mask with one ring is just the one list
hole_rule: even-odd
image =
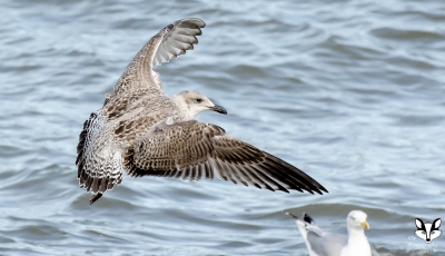
[(305, 214), (304, 219), (285, 211), (296, 218), (296, 224), (305, 240), (309, 256), (378, 256), (370, 249), (365, 228), (367, 215), (362, 210), (353, 210), (346, 218), (348, 237), (340, 234), (326, 233), (319, 228), (314, 219)]

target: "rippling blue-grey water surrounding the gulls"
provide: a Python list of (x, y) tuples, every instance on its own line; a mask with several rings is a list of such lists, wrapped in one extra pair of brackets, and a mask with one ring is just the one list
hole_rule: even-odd
[[(188, 17), (207, 27), (157, 68), (165, 90), (204, 92), (229, 115), (199, 120), (329, 194), (123, 176), (88, 204), (83, 121)], [(444, 1), (1, 1), (0, 88), (0, 255), (307, 255), (283, 210), (346, 234), (352, 209), (379, 253), (445, 255), (445, 235), (414, 237), (414, 218), (445, 219)]]

